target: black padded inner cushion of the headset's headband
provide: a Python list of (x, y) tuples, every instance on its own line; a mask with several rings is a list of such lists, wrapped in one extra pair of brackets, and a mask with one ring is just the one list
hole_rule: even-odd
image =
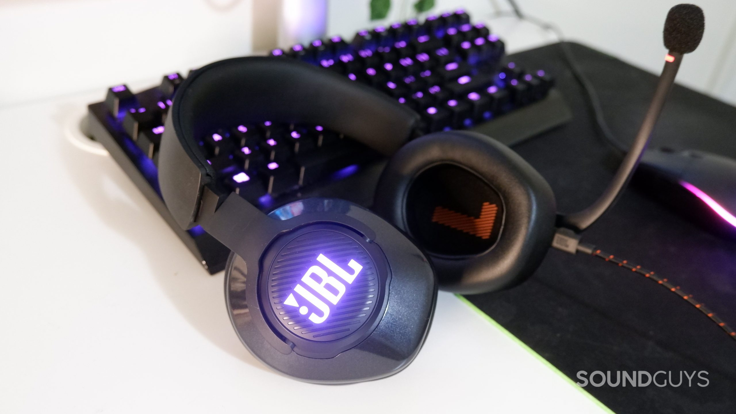
[(171, 108), (174, 130), (212, 175), (199, 140), (243, 123), (319, 124), (392, 155), (419, 116), (394, 99), (325, 69), (284, 57), (238, 57), (194, 71)]

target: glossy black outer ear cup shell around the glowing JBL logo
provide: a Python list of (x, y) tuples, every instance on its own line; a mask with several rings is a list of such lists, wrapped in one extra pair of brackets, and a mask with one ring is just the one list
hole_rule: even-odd
[[(285, 231), (275, 237), (263, 254), (243, 245), (244, 250), (239, 254), (231, 254), (225, 270), (227, 310), (242, 343), (266, 365), (307, 382), (359, 382), (390, 376), (406, 368), (424, 343), (436, 303), (436, 279), (425, 255), (388, 222), (343, 200), (300, 200), (277, 208), (269, 217), (286, 220), (283, 222), (285, 225), (297, 221), (299, 225), (294, 226), (294, 231)], [(344, 217), (343, 221), (350, 224), (341, 224), (330, 220), (330, 217)], [(369, 270), (368, 267), (375, 264), (375, 273), (379, 273), (377, 277), (367, 275), (364, 280), (355, 279), (355, 284), (365, 284), (367, 290), (361, 288), (360, 292), (355, 292), (355, 296), (344, 296), (336, 305), (328, 304), (330, 311), (337, 317), (347, 318), (345, 323), (360, 319), (350, 318), (353, 310), (370, 309), (365, 309), (369, 315), (364, 322), (356, 323), (360, 324), (357, 329), (342, 337), (336, 334), (335, 340), (326, 342), (289, 332), (289, 329), (283, 329), (280, 322), (276, 322), (280, 328), (275, 327), (275, 317), (285, 317), (286, 314), (280, 315), (280, 312), (286, 306), (300, 309), (306, 304), (310, 309), (304, 315), (310, 315), (314, 309), (298, 295), (295, 295), (295, 304), (275, 309), (280, 304), (272, 306), (272, 296), (289, 294), (297, 281), (281, 279), (283, 290), (279, 290), (278, 286), (272, 286), (274, 280), (269, 280), (267, 274), (272, 269), (274, 259), (278, 260), (277, 256), (289, 246), (289, 242), (313, 231), (360, 238), (360, 247), (350, 240), (343, 240), (347, 242), (347, 250), (341, 250), (344, 245), (340, 244), (340, 240), (334, 240), (330, 247), (329, 240), (321, 239), (326, 244), (320, 246), (319, 252), (330, 256), (346, 270), (350, 270), (350, 266), (346, 265), (347, 260), (356, 254), (356, 262), (364, 265), (364, 270)], [(259, 235), (244, 236), (257, 238)], [(315, 263), (314, 256), (319, 252), (302, 247), (303, 243), (292, 249), (297, 250), (295, 255), (302, 256), (302, 263), (289, 263), (288, 267), (282, 269), (294, 271), (277, 276), (290, 276), (293, 273), (300, 277)], [(361, 252), (367, 252), (371, 260), (361, 259)], [(386, 268), (381, 270), (383, 260)], [(298, 267), (298, 271), (292, 267)], [(272, 283), (269, 284), (269, 281)], [(347, 282), (343, 283), (347, 285)], [(375, 294), (369, 292), (372, 287), (368, 285), (371, 283), (375, 283)], [(386, 285), (381, 286), (381, 283)], [(383, 295), (380, 289), (384, 289)], [(345, 295), (350, 295), (350, 292), (346, 290)], [(288, 295), (281, 295), (279, 299), (287, 301), (287, 298)], [(361, 303), (369, 301), (372, 307), (361, 306)], [(316, 317), (322, 316), (322, 312), (314, 313)], [(295, 314), (291, 312), (286, 317), (290, 315)], [(289, 326), (288, 320), (285, 325)], [(334, 328), (337, 325), (339, 323), (333, 324), (330, 329), (336, 331)]]

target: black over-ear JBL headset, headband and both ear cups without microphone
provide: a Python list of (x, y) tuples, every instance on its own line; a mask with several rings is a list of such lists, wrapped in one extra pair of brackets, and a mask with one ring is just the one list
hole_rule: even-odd
[[(199, 137), (264, 119), (319, 124), (392, 157), (375, 194), (383, 218), (330, 199), (266, 215), (220, 186)], [(294, 60), (222, 60), (180, 86), (160, 189), (180, 226), (201, 225), (233, 250), (228, 312), (255, 357), (309, 382), (389, 376), (424, 342), (437, 281), (488, 292), (536, 269), (554, 234), (548, 183), (491, 138), (447, 131), (410, 141), (421, 128), (398, 102)]]

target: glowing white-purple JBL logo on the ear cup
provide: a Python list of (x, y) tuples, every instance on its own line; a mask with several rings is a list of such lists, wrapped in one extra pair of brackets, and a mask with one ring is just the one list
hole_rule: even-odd
[[(355, 262), (353, 259), (351, 259), (347, 264), (351, 269), (353, 269), (352, 274), (347, 273), (342, 267), (339, 267), (335, 262), (325, 257), (323, 254), (317, 256), (317, 262), (322, 263), (322, 265), (327, 267), (328, 270), (331, 270), (337, 276), (340, 276), (342, 280), (347, 281), (347, 284), (353, 284), (355, 278), (358, 277), (358, 273), (361, 273), (361, 270), (363, 270), (363, 266), (358, 264), (358, 262)], [(319, 281), (315, 278), (319, 278)], [(307, 270), (307, 273), (302, 276), (302, 282), (304, 282), (308, 287), (311, 287), (315, 292), (319, 293), (322, 298), (330, 301), (330, 304), (333, 305), (336, 305), (340, 301), (340, 298), (342, 298), (342, 295), (345, 294), (345, 285), (337, 278), (328, 276), (327, 270), (320, 266), (314, 265), (310, 267), (309, 270)], [(327, 320), (328, 316), (330, 316), (330, 306), (325, 304), (322, 299), (308, 291), (301, 284), (297, 284), (297, 286), (294, 287), (294, 293), (306, 299), (310, 304), (314, 305), (316, 309), (319, 309), (319, 312), (322, 312), (322, 316), (312, 312), (312, 314), (309, 315), (309, 320), (312, 322), (322, 323)], [(297, 306), (299, 307), (299, 313), (306, 315), (307, 312), (309, 312), (309, 308), (305, 305), (300, 306), (300, 303), (304, 302), (297, 301), (297, 298), (294, 297), (294, 293), (290, 293), (289, 297), (286, 298), (286, 301), (283, 301), (283, 304)]]

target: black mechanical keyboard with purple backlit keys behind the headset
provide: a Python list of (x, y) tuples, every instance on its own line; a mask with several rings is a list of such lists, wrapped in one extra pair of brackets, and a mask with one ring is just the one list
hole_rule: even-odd
[[(429, 16), (421, 24), (410, 19), (361, 30), (350, 43), (334, 36), (270, 53), (382, 91), (420, 113), (425, 133), (472, 129), (515, 144), (570, 119), (550, 74), (504, 62), (503, 41), (484, 24), (470, 24), (462, 10)], [(202, 228), (178, 228), (158, 188), (163, 121), (182, 81), (173, 73), (138, 93), (127, 85), (109, 88), (104, 101), (89, 105), (85, 133), (107, 148), (205, 269), (216, 273), (229, 250)], [(222, 125), (199, 144), (222, 173), (224, 186), (263, 211), (303, 197), (339, 197), (369, 206), (384, 161), (319, 125), (267, 119)]]

